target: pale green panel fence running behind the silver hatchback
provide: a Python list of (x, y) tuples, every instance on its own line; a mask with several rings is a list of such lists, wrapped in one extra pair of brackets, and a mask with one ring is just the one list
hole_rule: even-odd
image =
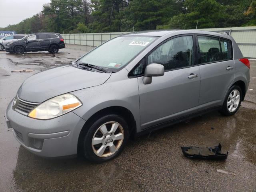
[[(256, 58), (256, 27), (198, 29), (230, 35), (237, 42), (244, 57)], [(130, 32), (62, 34), (66, 44), (99, 46), (116, 36)]]

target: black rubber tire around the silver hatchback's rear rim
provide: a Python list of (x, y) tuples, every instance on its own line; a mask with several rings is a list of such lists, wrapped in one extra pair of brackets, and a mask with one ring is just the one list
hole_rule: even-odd
[[(239, 95), (240, 95), (240, 100), (239, 100), (239, 103), (238, 103), (238, 106), (237, 106), (237, 108), (234, 110), (234, 111), (230, 111), (228, 108), (230, 108), (230, 106), (228, 106), (228, 101), (229, 102), (232, 102), (232, 100), (229, 98), (229, 96), (230, 96), (230, 94), (234, 91), (234, 90), (237, 90), (239, 93)], [(237, 86), (237, 85), (233, 85), (229, 90), (228, 90), (228, 94), (226, 95), (226, 98), (225, 98), (225, 100), (224, 100), (224, 103), (223, 103), (223, 105), (222, 105), (222, 109), (220, 110), (220, 113), (221, 114), (223, 114), (223, 115), (225, 115), (225, 116), (232, 116), (232, 115), (234, 115), (237, 111), (238, 111), (238, 109), (239, 109), (239, 107), (240, 107), (240, 104), (241, 104), (241, 101), (242, 101), (242, 97), (243, 97), (243, 95), (242, 95), (242, 90), (241, 90), (241, 88), (239, 87), (239, 86)]]

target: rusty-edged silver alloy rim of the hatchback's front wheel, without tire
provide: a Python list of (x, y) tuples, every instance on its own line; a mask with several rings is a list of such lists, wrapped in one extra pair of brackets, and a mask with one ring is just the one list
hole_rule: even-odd
[(92, 150), (99, 157), (108, 157), (118, 151), (123, 140), (123, 127), (118, 122), (106, 122), (94, 133)]

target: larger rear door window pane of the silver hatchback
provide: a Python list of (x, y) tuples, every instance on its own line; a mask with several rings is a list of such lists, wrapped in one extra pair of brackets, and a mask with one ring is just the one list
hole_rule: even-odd
[(222, 60), (219, 38), (198, 36), (199, 64)]

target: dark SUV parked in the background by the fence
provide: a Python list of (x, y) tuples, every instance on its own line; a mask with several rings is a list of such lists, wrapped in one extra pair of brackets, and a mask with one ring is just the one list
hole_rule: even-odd
[(58, 53), (65, 48), (64, 39), (58, 33), (29, 34), (16, 42), (6, 44), (6, 52), (23, 54), (24, 52), (48, 51)]

